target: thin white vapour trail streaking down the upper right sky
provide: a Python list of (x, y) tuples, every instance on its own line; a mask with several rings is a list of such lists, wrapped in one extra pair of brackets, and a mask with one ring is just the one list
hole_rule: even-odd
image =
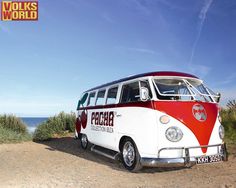
[(192, 64), (193, 58), (195, 56), (196, 47), (197, 47), (198, 41), (199, 41), (201, 34), (202, 34), (202, 28), (203, 28), (205, 20), (206, 20), (207, 12), (208, 12), (212, 2), (213, 2), (213, 0), (205, 0), (205, 3), (198, 15), (199, 24), (198, 24), (198, 29), (197, 29), (197, 36), (196, 36), (193, 46), (192, 46), (191, 56), (190, 56), (190, 60), (189, 60), (190, 65)]

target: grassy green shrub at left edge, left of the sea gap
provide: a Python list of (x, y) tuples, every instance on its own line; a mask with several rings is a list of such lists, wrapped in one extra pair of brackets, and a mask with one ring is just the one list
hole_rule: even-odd
[(0, 115), (0, 144), (31, 140), (27, 126), (14, 115)]

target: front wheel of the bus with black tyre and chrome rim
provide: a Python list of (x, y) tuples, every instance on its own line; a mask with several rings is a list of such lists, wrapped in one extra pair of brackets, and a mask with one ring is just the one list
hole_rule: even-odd
[(132, 172), (142, 168), (138, 149), (131, 138), (126, 138), (122, 145), (122, 162), (124, 167)]

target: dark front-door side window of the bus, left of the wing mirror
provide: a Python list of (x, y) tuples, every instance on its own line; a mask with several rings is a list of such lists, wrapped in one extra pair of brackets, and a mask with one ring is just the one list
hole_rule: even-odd
[(139, 82), (123, 85), (121, 103), (137, 102), (139, 100)]

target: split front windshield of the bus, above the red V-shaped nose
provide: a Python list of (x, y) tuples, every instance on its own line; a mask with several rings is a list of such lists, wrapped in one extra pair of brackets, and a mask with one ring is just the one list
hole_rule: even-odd
[(158, 78), (154, 79), (157, 98), (160, 100), (214, 102), (201, 80)]

